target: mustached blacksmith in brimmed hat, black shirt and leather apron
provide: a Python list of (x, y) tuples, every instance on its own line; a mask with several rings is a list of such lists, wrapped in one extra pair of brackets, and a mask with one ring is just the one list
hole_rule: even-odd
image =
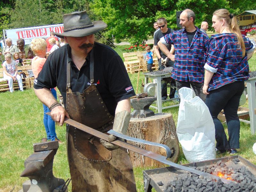
[[(60, 125), (67, 116), (101, 132), (113, 128), (125, 134), (130, 120), (129, 98), (135, 93), (119, 55), (95, 42), (94, 34), (107, 24), (92, 22), (83, 11), (65, 14), (63, 25), (64, 32), (55, 35), (68, 44), (46, 60), (35, 79), (37, 97), (51, 109), (52, 119)], [(56, 86), (65, 109), (51, 94), (50, 88)], [(69, 125), (67, 143), (73, 192), (136, 191), (125, 149)]]

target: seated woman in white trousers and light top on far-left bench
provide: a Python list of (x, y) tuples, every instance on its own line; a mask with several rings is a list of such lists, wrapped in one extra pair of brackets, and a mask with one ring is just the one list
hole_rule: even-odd
[(8, 81), (10, 92), (13, 92), (13, 81), (18, 80), (20, 91), (23, 91), (22, 79), (21, 76), (18, 75), (17, 64), (14, 60), (12, 60), (12, 56), (10, 53), (6, 53), (4, 55), (4, 79)]

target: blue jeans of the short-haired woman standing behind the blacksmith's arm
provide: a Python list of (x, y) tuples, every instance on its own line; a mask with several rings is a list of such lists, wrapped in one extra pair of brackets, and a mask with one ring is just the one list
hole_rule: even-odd
[[(57, 93), (55, 89), (51, 89), (52, 95), (55, 99), (57, 99)], [(50, 112), (50, 109), (43, 104), (44, 108), (44, 128), (47, 134), (47, 140), (54, 141), (55, 137), (57, 138), (56, 132), (55, 132), (55, 122), (52, 120), (52, 117), (49, 115), (46, 115), (45, 113)]]

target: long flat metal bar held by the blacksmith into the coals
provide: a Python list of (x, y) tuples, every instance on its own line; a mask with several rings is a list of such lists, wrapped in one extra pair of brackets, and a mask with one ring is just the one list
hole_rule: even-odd
[[(50, 115), (50, 113), (46, 113), (47, 115)], [(69, 119), (69, 118), (65, 118), (64, 120), (65, 123), (73, 126), (73, 127), (76, 127), (77, 129), (80, 129), (84, 132), (87, 132), (95, 137), (98, 137), (100, 139), (103, 139), (103, 140), (106, 140), (108, 141), (108, 135), (105, 134), (105, 133), (102, 133), (102, 132), (99, 132), (95, 129), (92, 129), (91, 127), (88, 127), (84, 124), (81, 124), (81, 123), (78, 123), (72, 119)], [(108, 141), (109, 142), (109, 141)], [(199, 171), (199, 170), (196, 170), (196, 169), (192, 169), (192, 168), (189, 168), (189, 167), (186, 167), (186, 166), (183, 166), (183, 165), (180, 165), (180, 164), (176, 164), (176, 163), (173, 163), (171, 161), (168, 161), (165, 159), (165, 156), (162, 156), (162, 155), (159, 155), (157, 153), (154, 153), (152, 151), (148, 151), (146, 149), (143, 149), (143, 148), (139, 148), (137, 146), (134, 146), (134, 145), (131, 145), (129, 143), (126, 143), (126, 142), (123, 142), (121, 140), (115, 140), (115, 141), (112, 141), (110, 143), (113, 143), (119, 147), (122, 147), (122, 148), (125, 148), (125, 149), (128, 149), (128, 150), (131, 150), (131, 151), (134, 151), (136, 153), (139, 153), (141, 155), (144, 155), (146, 157), (149, 157), (151, 159), (154, 159), (156, 161), (159, 161), (161, 163), (164, 163), (164, 164), (167, 164), (167, 165), (170, 165), (170, 166), (173, 166), (173, 167), (176, 167), (178, 169), (182, 169), (182, 170), (185, 170), (185, 171), (188, 171), (188, 172), (191, 172), (191, 173), (195, 173), (196, 175), (202, 175), (202, 176), (205, 176), (205, 177), (210, 177), (214, 180), (221, 180), (223, 183), (230, 183), (230, 182), (233, 182), (231, 180), (226, 180), (224, 178), (220, 178), (218, 176), (215, 176), (215, 175), (212, 175), (210, 173), (206, 173), (206, 172), (202, 172), (202, 171)]]

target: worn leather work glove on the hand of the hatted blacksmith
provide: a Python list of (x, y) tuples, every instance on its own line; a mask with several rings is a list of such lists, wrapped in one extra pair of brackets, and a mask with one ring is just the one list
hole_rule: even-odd
[[(116, 131), (116, 132), (119, 132), (121, 134), (126, 135), (130, 119), (131, 119), (131, 114), (128, 111), (124, 110), (124, 111), (121, 111), (121, 112), (117, 113), (115, 115), (113, 130)], [(114, 136), (112, 134), (108, 135), (108, 140), (109, 141), (114, 141), (116, 139), (117, 139), (116, 136)], [(112, 143), (109, 143), (108, 141), (105, 141), (103, 139), (100, 139), (100, 143), (110, 151), (119, 148), (119, 146), (114, 145)]]

